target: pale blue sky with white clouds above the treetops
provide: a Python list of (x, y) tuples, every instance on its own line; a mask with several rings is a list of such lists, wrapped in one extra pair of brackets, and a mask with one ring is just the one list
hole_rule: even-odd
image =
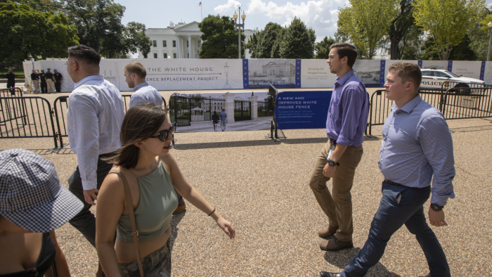
[[(197, 6), (198, 3), (202, 6)], [(148, 28), (165, 28), (169, 22), (200, 22), (207, 15), (234, 14), (241, 5), (241, 13), (245, 11), (246, 29), (264, 29), (268, 22), (276, 22), (287, 26), (295, 16), (300, 18), (307, 27), (316, 32), (316, 41), (325, 36), (333, 36), (337, 32), (337, 9), (348, 5), (348, 0), (115, 0), (125, 6), (122, 23), (136, 21)], [(487, 0), (488, 5), (492, 0)]]

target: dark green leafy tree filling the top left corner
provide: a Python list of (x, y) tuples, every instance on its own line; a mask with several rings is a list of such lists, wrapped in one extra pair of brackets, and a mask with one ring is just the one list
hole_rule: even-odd
[(35, 11), (26, 4), (0, 3), (0, 25), (2, 63), (63, 58), (68, 46), (78, 44), (77, 30), (65, 15)]

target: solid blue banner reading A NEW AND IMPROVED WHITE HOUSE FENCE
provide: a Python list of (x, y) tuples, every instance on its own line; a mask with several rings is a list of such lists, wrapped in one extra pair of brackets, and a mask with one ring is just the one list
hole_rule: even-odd
[(332, 91), (280, 91), (275, 120), (278, 129), (317, 129), (326, 127)]

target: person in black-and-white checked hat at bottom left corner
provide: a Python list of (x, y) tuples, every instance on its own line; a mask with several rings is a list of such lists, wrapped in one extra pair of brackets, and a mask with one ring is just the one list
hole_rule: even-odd
[(54, 230), (82, 206), (53, 163), (24, 149), (1, 151), (0, 276), (70, 276)]

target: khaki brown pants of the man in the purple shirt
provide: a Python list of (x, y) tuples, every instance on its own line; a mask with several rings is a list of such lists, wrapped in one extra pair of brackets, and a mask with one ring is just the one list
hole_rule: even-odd
[(328, 157), (330, 146), (331, 143), (328, 141), (321, 150), (321, 154), (314, 165), (309, 186), (311, 186), (321, 210), (328, 216), (330, 226), (339, 227), (335, 236), (339, 240), (348, 241), (352, 240), (352, 233), (354, 233), (350, 190), (354, 183), (356, 167), (362, 159), (363, 148), (362, 145), (347, 147), (342, 157), (338, 160), (340, 165), (337, 166), (333, 175), (332, 191), (330, 193), (326, 184), (330, 178), (323, 175), (323, 168), (328, 163), (326, 158)]

